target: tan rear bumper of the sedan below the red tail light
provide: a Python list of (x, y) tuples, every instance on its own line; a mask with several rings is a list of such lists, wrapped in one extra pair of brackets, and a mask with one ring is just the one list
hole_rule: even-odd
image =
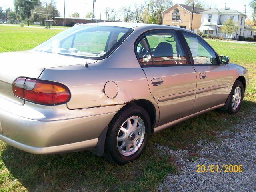
[(69, 110), (66, 104), (18, 105), (0, 98), (0, 140), (35, 154), (92, 150), (121, 107)]

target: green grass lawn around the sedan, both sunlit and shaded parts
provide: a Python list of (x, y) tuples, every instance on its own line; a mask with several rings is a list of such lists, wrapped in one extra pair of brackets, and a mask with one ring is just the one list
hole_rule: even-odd
[[(60, 31), (0, 26), (0, 52), (28, 50)], [(208, 42), (250, 73), (248, 96), (238, 114), (214, 110), (159, 132), (144, 154), (125, 166), (90, 152), (35, 155), (0, 142), (0, 191), (155, 191), (166, 174), (176, 171), (174, 158), (156, 150), (155, 144), (185, 148), (189, 156), (196, 156), (194, 144), (199, 139), (216, 140), (216, 131), (228, 129), (230, 121), (246, 118), (247, 111), (256, 106), (256, 45)]]

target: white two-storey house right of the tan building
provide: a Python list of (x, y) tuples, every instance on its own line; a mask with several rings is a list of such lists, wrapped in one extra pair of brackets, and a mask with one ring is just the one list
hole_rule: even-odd
[[(201, 12), (201, 26), (199, 30), (204, 34), (212, 36), (223, 36), (225, 38), (238, 39), (239, 36), (253, 37), (254, 30), (250, 26), (245, 26), (246, 15), (230, 8), (211, 8)], [(238, 28), (232, 35), (223, 34), (221, 32), (222, 24), (226, 20), (232, 19)]]

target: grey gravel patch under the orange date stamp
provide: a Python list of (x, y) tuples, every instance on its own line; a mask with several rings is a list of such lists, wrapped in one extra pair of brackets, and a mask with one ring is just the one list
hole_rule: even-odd
[[(168, 174), (159, 191), (256, 191), (256, 108), (232, 129), (217, 134), (217, 142), (200, 141), (196, 152), (168, 150), (177, 173)], [(193, 158), (196, 156), (197, 158)], [(195, 159), (195, 160), (194, 160)], [(218, 165), (218, 173), (196, 172), (197, 165)], [(222, 172), (222, 165), (242, 165), (243, 172)]]

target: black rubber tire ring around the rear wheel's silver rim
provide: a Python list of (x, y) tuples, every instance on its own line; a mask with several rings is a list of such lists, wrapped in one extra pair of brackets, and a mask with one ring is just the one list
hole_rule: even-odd
[[(132, 116), (138, 116), (143, 120), (145, 125), (145, 134), (140, 148), (138, 148), (138, 150), (134, 154), (130, 156), (124, 156), (118, 151), (116, 139), (122, 124)], [(128, 104), (124, 106), (124, 108), (122, 108), (110, 122), (106, 135), (104, 157), (107, 158), (109, 161), (120, 165), (124, 165), (126, 163), (136, 160), (137, 158), (139, 158), (139, 156), (146, 148), (146, 145), (148, 144), (148, 140), (150, 138), (150, 130), (150, 117), (146, 110), (144, 110), (144, 108), (135, 104)]]

